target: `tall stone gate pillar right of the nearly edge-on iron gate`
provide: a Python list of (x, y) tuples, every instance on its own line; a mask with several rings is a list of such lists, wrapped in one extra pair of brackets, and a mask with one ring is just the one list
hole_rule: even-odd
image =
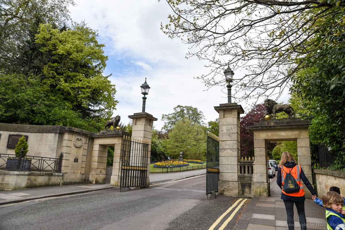
[(219, 113), (219, 194), (238, 195), (237, 162), (240, 156), (239, 116), (244, 114), (237, 103), (214, 107)]

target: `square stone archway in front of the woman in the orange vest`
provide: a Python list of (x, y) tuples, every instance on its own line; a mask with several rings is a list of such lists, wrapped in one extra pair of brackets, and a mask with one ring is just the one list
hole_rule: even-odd
[[(261, 120), (254, 123), (250, 130), (254, 133), (254, 178), (248, 196), (268, 196), (269, 180), (267, 176), (267, 143), (271, 141), (297, 141), (298, 164), (304, 174), (312, 181), (311, 155), (309, 148), (308, 127), (306, 120), (283, 118)], [(306, 188), (304, 186), (304, 188)], [(306, 197), (311, 197), (305, 189)]]

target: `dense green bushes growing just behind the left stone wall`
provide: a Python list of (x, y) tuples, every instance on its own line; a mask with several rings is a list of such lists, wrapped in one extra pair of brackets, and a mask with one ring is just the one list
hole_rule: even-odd
[(62, 125), (98, 132), (101, 117), (83, 118), (66, 106), (61, 97), (43, 92), (36, 76), (0, 72), (0, 121), (3, 123)]

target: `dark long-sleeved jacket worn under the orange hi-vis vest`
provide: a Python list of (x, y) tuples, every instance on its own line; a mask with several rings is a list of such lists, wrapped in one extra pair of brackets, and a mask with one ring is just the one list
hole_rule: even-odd
[[(296, 164), (293, 161), (287, 161), (284, 166), (287, 168), (293, 168), (296, 166)], [(304, 185), (307, 186), (307, 188), (312, 193), (312, 195), (316, 195), (316, 191), (313, 188), (313, 186), (310, 184), (307, 177), (304, 175), (302, 167), (301, 167), (301, 171), (299, 172), (299, 177), (302, 179)], [(280, 168), (280, 167), (278, 167), (277, 185), (279, 186), (280, 189), (282, 189), (282, 168)], [(304, 201), (305, 197), (304, 196), (302, 196), (302, 197), (289, 196), (289, 195), (286, 195), (282, 192), (281, 199), (282, 200), (292, 200), (292, 201)]]

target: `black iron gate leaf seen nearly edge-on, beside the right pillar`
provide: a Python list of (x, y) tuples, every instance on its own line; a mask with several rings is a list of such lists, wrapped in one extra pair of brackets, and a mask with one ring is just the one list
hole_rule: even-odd
[(206, 153), (206, 195), (218, 192), (219, 181), (219, 137), (207, 135)]

